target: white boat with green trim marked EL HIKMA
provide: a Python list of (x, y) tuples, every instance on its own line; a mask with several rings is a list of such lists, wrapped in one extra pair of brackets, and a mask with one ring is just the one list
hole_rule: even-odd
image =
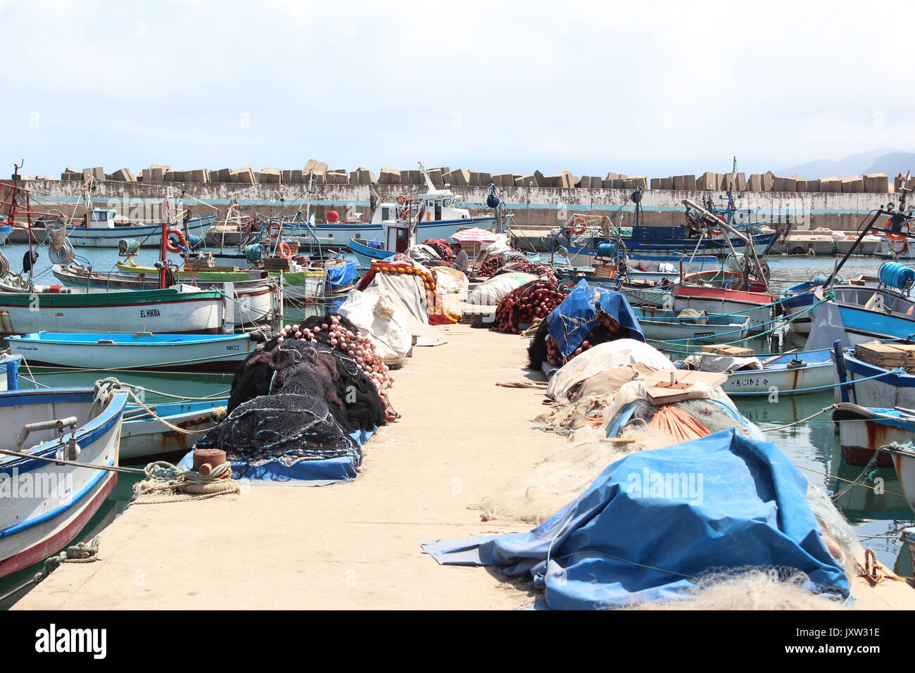
[(187, 285), (118, 292), (0, 292), (0, 335), (231, 333), (235, 313), (234, 299)]

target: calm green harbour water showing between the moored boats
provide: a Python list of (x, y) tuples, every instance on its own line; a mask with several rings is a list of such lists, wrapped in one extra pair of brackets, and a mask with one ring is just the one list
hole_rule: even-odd
[[(36, 282), (55, 284), (57, 280), (50, 274), (50, 265), (46, 259), (47, 248), (39, 248), (41, 256), (35, 266)], [(25, 245), (9, 245), (3, 249), (9, 257), (14, 271), (21, 269), (21, 260), (27, 252)], [(78, 255), (83, 263), (92, 264), (98, 271), (116, 270), (114, 263), (119, 260), (115, 249), (78, 249)], [(140, 264), (153, 264), (158, 256), (157, 250), (142, 250), (137, 255)], [(818, 274), (828, 274), (833, 270), (835, 260), (831, 257), (794, 257), (773, 256), (769, 259), (772, 271), (772, 288), (781, 290), (798, 282), (806, 281)], [(879, 260), (874, 258), (851, 259), (843, 268), (841, 276), (845, 278), (857, 277), (860, 274), (874, 275), (879, 266)], [(316, 307), (323, 309), (324, 307)], [(287, 313), (288, 315), (288, 313)], [(289, 315), (289, 319), (296, 320), (296, 316)], [(506, 336), (506, 338), (511, 338)], [(803, 339), (791, 332), (780, 330), (765, 339), (757, 339), (748, 343), (756, 349), (757, 353), (775, 353), (792, 348), (802, 349)], [(683, 357), (681, 353), (668, 353), (673, 360)], [(145, 374), (134, 372), (108, 373), (104, 371), (48, 371), (39, 370), (23, 372), (24, 376), (34, 380), (25, 381), (24, 385), (92, 385), (97, 379), (113, 374), (116, 377), (134, 384), (142, 385), (151, 391), (169, 395), (188, 397), (221, 397), (228, 396), (231, 385), (231, 374)], [(145, 400), (149, 402), (163, 402), (167, 397), (157, 396), (156, 393), (147, 393)], [(812, 416), (816, 412), (828, 407), (835, 401), (832, 390), (801, 396), (780, 396), (770, 400), (766, 397), (736, 397), (737, 407), (750, 420), (755, 422), (760, 429), (774, 429), (794, 423), (800, 418)], [(775, 429), (766, 432), (768, 440), (774, 442), (794, 462), (804, 476), (811, 482), (822, 485), (825, 490), (833, 494), (841, 491), (848, 482), (856, 480), (863, 468), (846, 465), (842, 460), (839, 450), (838, 436), (834, 423), (829, 414), (821, 414), (816, 418), (789, 428)], [(371, 443), (368, 446), (371, 450)], [(865, 480), (866, 485), (856, 486), (848, 493), (839, 497), (835, 503), (845, 513), (856, 533), (862, 536), (861, 541), (869, 548), (873, 548), (877, 557), (890, 568), (903, 576), (912, 575), (908, 551), (903, 548), (898, 540), (899, 531), (907, 526), (915, 525), (915, 515), (912, 514), (904, 498), (901, 497), (901, 488), (892, 468), (879, 469), (869, 475), (876, 477), (879, 486), (876, 490), (867, 486), (875, 485), (871, 479)], [(112, 494), (109, 495), (99, 512), (81, 532), (77, 541), (92, 539), (104, 526), (111, 523), (128, 502), (131, 495), (131, 486), (136, 478), (132, 475), (122, 474)], [(421, 540), (417, 540), (417, 544)], [(104, 543), (102, 541), (102, 554)], [(12, 576), (0, 580), (0, 595), (9, 592), (17, 585), (27, 581), (35, 572), (41, 569), (41, 564), (21, 570)], [(10, 604), (21, 598), (21, 593), (12, 596), (5, 603), (0, 603), (0, 609), (9, 607)]]

